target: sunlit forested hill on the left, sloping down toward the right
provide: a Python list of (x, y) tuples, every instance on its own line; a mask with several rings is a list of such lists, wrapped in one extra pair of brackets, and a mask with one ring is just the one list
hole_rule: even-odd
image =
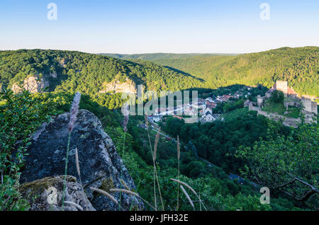
[(172, 90), (203, 86), (189, 74), (152, 62), (128, 62), (113, 57), (60, 50), (0, 51), (0, 86), (12, 86), (28, 76), (50, 79), (50, 91), (91, 94), (113, 80), (144, 84), (151, 90)]

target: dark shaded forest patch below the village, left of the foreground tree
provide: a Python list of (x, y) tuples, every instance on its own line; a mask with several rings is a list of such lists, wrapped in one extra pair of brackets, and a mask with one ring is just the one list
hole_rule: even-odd
[(238, 146), (251, 146), (260, 137), (266, 137), (267, 120), (252, 113), (242, 113), (226, 122), (208, 122), (204, 124), (184, 124), (176, 118), (169, 118), (163, 129), (173, 137), (181, 137), (196, 148), (196, 155), (221, 166), (224, 171), (237, 173), (242, 162), (231, 156)]

